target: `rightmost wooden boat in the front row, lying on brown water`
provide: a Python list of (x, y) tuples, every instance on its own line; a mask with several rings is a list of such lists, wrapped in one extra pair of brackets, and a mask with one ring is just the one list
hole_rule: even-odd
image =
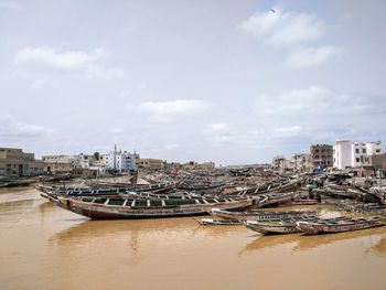
[(309, 235), (317, 235), (322, 233), (341, 233), (351, 232), (376, 226), (383, 226), (386, 219), (378, 216), (345, 218), (340, 221), (323, 221), (315, 222), (297, 222), (297, 227)]

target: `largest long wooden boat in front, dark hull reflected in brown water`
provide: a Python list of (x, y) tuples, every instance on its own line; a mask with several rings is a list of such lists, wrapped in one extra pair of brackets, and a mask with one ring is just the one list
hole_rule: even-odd
[(253, 198), (133, 200), (58, 197), (57, 205), (93, 219), (158, 218), (206, 215), (211, 208), (239, 210), (250, 207)]

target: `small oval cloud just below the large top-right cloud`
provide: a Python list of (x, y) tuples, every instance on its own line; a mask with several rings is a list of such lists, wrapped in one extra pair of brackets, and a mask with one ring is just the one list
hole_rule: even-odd
[(339, 49), (333, 45), (320, 47), (302, 47), (290, 53), (285, 64), (292, 68), (302, 68), (328, 63), (339, 54)]

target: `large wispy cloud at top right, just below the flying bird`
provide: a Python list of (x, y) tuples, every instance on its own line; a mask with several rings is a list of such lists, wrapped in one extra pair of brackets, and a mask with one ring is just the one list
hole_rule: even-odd
[(321, 37), (324, 21), (313, 14), (299, 12), (257, 11), (237, 24), (240, 31), (275, 45), (292, 45)]

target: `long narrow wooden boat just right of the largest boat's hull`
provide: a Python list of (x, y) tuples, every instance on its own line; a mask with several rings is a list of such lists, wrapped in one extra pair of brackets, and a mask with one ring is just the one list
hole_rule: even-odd
[(315, 216), (315, 211), (281, 211), (281, 212), (229, 212), (219, 208), (213, 208), (211, 214), (222, 218), (238, 221), (271, 221), (274, 218), (290, 218), (299, 216)]

